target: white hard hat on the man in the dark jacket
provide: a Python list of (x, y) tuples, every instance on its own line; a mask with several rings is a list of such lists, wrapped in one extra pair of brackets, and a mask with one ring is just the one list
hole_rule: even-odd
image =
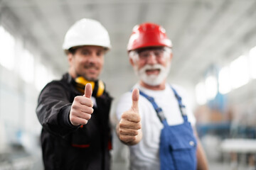
[(63, 50), (80, 45), (97, 45), (110, 49), (110, 36), (100, 22), (82, 18), (66, 33)]

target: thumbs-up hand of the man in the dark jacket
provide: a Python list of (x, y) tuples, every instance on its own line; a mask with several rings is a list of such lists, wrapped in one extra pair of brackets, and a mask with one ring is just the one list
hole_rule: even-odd
[(85, 125), (91, 118), (93, 113), (92, 85), (90, 83), (85, 86), (84, 96), (76, 96), (70, 109), (70, 122), (72, 125)]

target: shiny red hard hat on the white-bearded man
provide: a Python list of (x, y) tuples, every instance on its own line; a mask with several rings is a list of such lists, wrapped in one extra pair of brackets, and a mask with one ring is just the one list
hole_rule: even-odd
[(142, 23), (139, 26), (134, 26), (127, 50), (152, 46), (172, 47), (171, 40), (167, 38), (164, 28), (155, 23)]

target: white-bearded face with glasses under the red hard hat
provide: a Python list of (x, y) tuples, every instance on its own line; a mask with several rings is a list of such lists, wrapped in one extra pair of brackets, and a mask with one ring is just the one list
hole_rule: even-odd
[(130, 62), (147, 88), (163, 89), (171, 67), (171, 49), (167, 47), (149, 47), (129, 52)]

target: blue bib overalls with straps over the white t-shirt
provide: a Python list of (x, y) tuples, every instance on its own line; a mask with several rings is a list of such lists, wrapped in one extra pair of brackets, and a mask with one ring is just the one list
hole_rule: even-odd
[(159, 146), (161, 170), (194, 170), (197, 163), (196, 137), (193, 135), (191, 124), (188, 122), (181, 96), (178, 96), (173, 87), (171, 89), (174, 91), (184, 120), (180, 125), (168, 125), (162, 109), (157, 106), (154, 98), (147, 96), (142, 91), (139, 91), (139, 94), (150, 101), (159, 120), (164, 125), (164, 128), (161, 130)]

